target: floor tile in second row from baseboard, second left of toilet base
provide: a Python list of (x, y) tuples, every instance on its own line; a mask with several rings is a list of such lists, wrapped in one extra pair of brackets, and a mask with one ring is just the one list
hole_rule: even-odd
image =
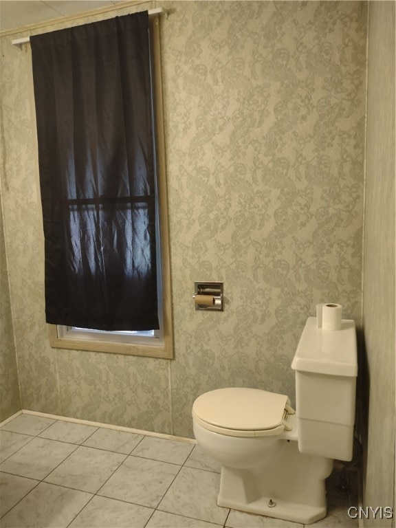
[(180, 466), (128, 456), (98, 495), (155, 508)]

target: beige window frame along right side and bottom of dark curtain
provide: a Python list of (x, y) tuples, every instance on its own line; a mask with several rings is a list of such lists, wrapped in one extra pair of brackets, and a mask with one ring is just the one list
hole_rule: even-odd
[[(153, 100), (153, 137), (156, 161), (156, 199), (157, 199), (157, 252), (160, 266), (159, 279), (159, 337), (144, 338), (129, 336), (128, 342), (114, 340), (111, 333), (98, 332), (95, 338), (92, 332), (69, 331), (61, 325), (48, 325), (50, 345), (53, 348), (107, 352), (126, 355), (139, 355), (151, 358), (173, 359), (173, 328), (170, 287), (170, 244), (168, 232), (168, 197), (166, 190), (166, 160), (164, 135), (164, 105), (161, 76), (161, 47), (159, 40), (159, 17), (150, 17), (150, 63), (151, 90)], [(74, 336), (73, 336), (74, 333)], [(99, 338), (100, 335), (100, 338)]]

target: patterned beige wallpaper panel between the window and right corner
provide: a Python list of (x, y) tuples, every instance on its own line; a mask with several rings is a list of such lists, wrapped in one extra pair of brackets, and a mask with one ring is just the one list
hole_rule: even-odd
[[(177, 2), (163, 24), (173, 422), (204, 391), (289, 394), (307, 315), (359, 320), (366, 8)], [(193, 281), (224, 281), (224, 314)], [(359, 322), (359, 321), (358, 321)]]

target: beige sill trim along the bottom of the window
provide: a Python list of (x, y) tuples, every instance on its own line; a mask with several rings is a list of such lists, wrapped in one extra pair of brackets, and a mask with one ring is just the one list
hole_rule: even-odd
[(89, 352), (107, 352), (113, 354), (140, 355), (146, 358), (173, 359), (172, 340), (164, 335), (161, 344), (135, 344), (99, 340), (81, 340), (58, 336), (56, 325), (49, 325), (50, 345), (55, 349), (82, 350)]

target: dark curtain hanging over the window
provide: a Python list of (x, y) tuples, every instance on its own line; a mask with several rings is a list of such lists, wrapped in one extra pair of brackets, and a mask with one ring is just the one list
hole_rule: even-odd
[(148, 13), (30, 41), (47, 322), (157, 329)]

